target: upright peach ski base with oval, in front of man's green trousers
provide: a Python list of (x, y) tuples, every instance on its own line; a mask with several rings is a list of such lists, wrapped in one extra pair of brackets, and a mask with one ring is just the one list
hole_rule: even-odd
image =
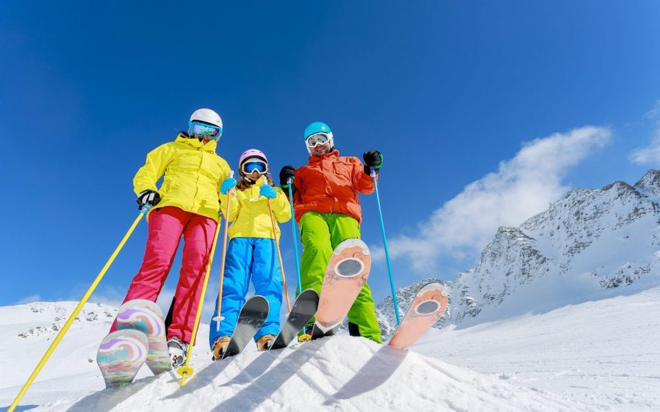
[(323, 279), (312, 339), (336, 333), (369, 277), (371, 255), (359, 239), (341, 242), (330, 257)]

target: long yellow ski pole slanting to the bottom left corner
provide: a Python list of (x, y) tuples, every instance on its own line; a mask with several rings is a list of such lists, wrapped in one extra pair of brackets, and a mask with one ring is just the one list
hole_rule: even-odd
[(23, 385), (23, 388), (21, 388), (20, 392), (16, 396), (16, 399), (14, 399), (14, 402), (11, 404), (11, 406), (9, 406), (9, 409), (7, 409), (7, 412), (13, 412), (14, 409), (16, 409), (16, 406), (18, 406), (18, 402), (20, 402), (23, 395), (25, 395), (28, 388), (31, 386), (34, 379), (36, 379), (39, 372), (41, 372), (41, 369), (44, 367), (44, 365), (46, 364), (46, 362), (50, 358), (51, 354), (53, 353), (53, 351), (55, 350), (57, 345), (59, 345), (60, 340), (62, 340), (65, 333), (67, 333), (67, 331), (69, 330), (69, 327), (74, 322), (74, 320), (77, 318), (77, 316), (80, 313), (80, 311), (82, 310), (84, 304), (86, 304), (87, 300), (92, 295), (92, 293), (94, 292), (94, 290), (96, 289), (96, 287), (100, 283), (101, 279), (103, 279), (103, 277), (105, 275), (105, 272), (107, 272), (110, 265), (112, 265), (113, 261), (115, 260), (115, 258), (119, 254), (122, 247), (124, 247), (124, 244), (126, 243), (128, 238), (131, 236), (131, 234), (133, 233), (133, 231), (135, 229), (135, 226), (137, 226), (137, 224), (140, 222), (142, 217), (144, 215), (146, 215), (146, 213), (149, 211), (150, 208), (151, 208), (151, 206), (149, 206), (149, 205), (146, 205), (142, 208), (142, 210), (140, 211), (140, 214), (138, 215), (138, 217), (135, 218), (133, 224), (131, 225), (131, 227), (128, 229), (128, 231), (124, 235), (124, 238), (121, 240), (121, 242), (119, 242), (119, 245), (116, 247), (115, 251), (112, 252), (112, 255), (110, 256), (108, 261), (105, 263), (105, 265), (101, 269), (101, 272), (99, 272), (96, 279), (94, 279), (94, 281), (92, 282), (91, 286), (89, 287), (89, 289), (87, 290), (85, 295), (82, 297), (82, 299), (80, 299), (80, 303), (78, 304), (78, 306), (76, 306), (73, 313), (71, 313), (71, 315), (69, 316), (69, 319), (66, 321), (66, 323), (64, 324), (62, 329), (59, 331), (59, 333), (57, 334), (57, 336), (53, 340), (53, 343), (50, 345), (50, 347), (48, 348), (48, 350), (46, 351), (44, 356), (41, 358), (41, 361), (39, 361), (36, 368), (34, 368), (32, 374), (30, 375), (28, 380)]

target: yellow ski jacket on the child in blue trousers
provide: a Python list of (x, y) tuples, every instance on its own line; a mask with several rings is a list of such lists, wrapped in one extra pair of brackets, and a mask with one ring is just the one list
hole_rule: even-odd
[[(231, 191), (231, 200), (229, 201), (229, 238), (269, 238), (274, 239), (273, 225), (270, 220), (270, 211), (268, 210), (268, 199), (259, 195), (259, 190), (263, 186), (262, 179), (259, 179), (246, 190), (234, 188)], [(273, 186), (277, 192), (277, 197), (270, 199), (271, 208), (275, 215), (275, 221), (279, 223), (287, 222), (291, 219), (291, 208), (289, 199), (282, 189)], [(221, 195), (222, 212), (226, 211), (227, 195)], [(277, 238), (280, 236), (280, 228), (275, 224)]]

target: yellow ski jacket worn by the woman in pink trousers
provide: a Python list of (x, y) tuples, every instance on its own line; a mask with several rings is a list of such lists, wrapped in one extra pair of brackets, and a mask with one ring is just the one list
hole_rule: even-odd
[[(216, 154), (216, 148), (215, 140), (204, 145), (180, 133), (175, 141), (147, 154), (146, 162), (133, 178), (136, 195), (143, 190), (157, 190), (161, 200), (155, 208), (175, 206), (217, 222), (219, 188), (229, 176), (230, 167)], [(163, 184), (157, 188), (156, 183), (163, 174)]]

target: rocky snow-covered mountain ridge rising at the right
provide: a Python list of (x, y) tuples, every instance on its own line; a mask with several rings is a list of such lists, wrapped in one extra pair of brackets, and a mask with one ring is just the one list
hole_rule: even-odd
[[(437, 327), (459, 324), (492, 310), (544, 277), (572, 279), (569, 284), (583, 290), (570, 293), (572, 302), (585, 302), (594, 286), (622, 288), (650, 273), (659, 274), (659, 197), (660, 171), (650, 170), (634, 186), (617, 181), (602, 189), (572, 190), (519, 227), (500, 227), (482, 251), (478, 265), (446, 282), (451, 290), (450, 306)], [(433, 280), (398, 289), (401, 313), (408, 308), (414, 290)], [(559, 299), (563, 293), (556, 292), (547, 298)], [(529, 302), (528, 309), (534, 310), (537, 304)], [(384, 334), (388, 334), (395, 325), (391, 297), (377, 307)]]

